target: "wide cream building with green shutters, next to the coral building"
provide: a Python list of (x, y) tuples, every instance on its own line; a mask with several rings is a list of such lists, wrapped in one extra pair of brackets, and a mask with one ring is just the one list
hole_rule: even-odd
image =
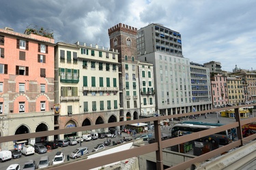
[[(55, 116), (59, 129), (119, 121), (119, 63), (116, 50), (58, 42), (55, 48)], [(95, 131), (108, 131), (96, 129)], [(81, 136), (79, 132), (59, 138)]]

